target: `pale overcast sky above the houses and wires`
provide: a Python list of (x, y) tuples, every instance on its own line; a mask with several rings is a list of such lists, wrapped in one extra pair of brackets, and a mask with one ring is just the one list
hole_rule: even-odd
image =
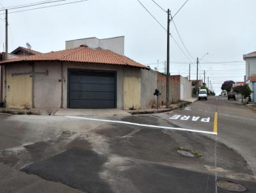
[[(4, 7), (35, 3), (42, 0), (0, 0)], [(68, 0), (76, 1), (76, 0)], [(167, 15), (151, 0), (140, 0), (148, 10), (167, 26)], [(174, 15), (185, 0), (155, 0)], [(1, 5), (0, 5), (1, 7)], [(220, 93), (221, 82), (243, 81), (243, 54), (256, 50), (255, 0), (189, 0), (173, 19), (180, 36), (193, 58), (202, 58), (200, 77), (206, 77)], [(14, 11), (14, 10), (13, 10)], [(9, 12), (12, 12), (10, 10)], [(4, 12), (1, 12), (4, 13)], [(4, 15), (0, 15), (0, 50), (4, 43)], [(152, 19), (137, 0), (88, 0), (41, 10), (9, 14), (9, 51), (29, 42), (33, 50), (50, 52), (65, 49), (65, 40), (77, 38), (109, 38), (125, 36), (125, 55), (145, 65), (157, 63), (163, 72), (166, 60), (166, 31)], [(180, 42), (171, 24), (171, 33), (182, 51), (171, 39), (170, 71), (196, 79), (195, 59)], [(189, 59), (188, 59), (188, 58)], [(239, 61), (240, 63), (205, 64), (205, 62)], [(180, 64), (184, 62), (187, 64)], [(154, 68), (157, 65), (150, 65)], [(207, 82), (207, 78), (205, 79)]]

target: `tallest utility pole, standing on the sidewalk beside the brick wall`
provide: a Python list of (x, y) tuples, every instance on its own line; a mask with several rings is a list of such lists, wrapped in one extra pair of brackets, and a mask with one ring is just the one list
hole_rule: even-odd
[(170, 9), (167, 10), (166, 109), (170, 107)]

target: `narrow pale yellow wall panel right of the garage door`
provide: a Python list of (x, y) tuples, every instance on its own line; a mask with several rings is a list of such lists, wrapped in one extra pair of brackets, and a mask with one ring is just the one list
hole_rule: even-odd
[(138, 77), (124, 77), (124, 109), (140, 109), (141, 81)]

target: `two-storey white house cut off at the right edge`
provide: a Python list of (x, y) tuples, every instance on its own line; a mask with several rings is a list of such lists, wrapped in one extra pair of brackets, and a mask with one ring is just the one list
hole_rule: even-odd
[(256, 102), (256, 52), (244, 54), (243, 59), (246, 61), (246, 84), (252, 89), (252, 101)]

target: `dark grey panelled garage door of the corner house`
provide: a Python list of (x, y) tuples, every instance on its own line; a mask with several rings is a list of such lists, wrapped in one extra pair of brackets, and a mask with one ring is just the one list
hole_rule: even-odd
[(110, 109), (116, 107), (116, 73), (69, 70), (69, 108)]

